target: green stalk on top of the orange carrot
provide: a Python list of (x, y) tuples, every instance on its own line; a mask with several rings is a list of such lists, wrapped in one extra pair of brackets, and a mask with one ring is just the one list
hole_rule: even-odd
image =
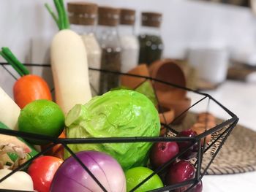
[(30, 74), (29, 70), (18, 61), (18, 58), (12, 53), (12, 51), (8, 47), (1, 47), (0, 55), (10, 64), (13, 69), (15, 69), (21, 77), (24, 75)]

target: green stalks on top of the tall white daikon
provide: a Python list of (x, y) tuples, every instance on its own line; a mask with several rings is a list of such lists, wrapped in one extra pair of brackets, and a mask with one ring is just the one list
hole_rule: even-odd
[(57, 26), (59, 27), (59, 30), (69, 28), (69, 20), (63, 0), (53, 0), (53, 2), (55, 8), (57, 9), (59, 17), (57, 17), (57, 15), (53, 12), (53, 9), (47, 3), (45, 4), (46, 9), (48, 9), (48, 12), (53, 17), (53, 20), (55, 20)]

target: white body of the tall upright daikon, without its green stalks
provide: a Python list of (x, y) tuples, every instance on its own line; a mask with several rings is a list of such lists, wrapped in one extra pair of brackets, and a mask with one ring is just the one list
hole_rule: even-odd
[(91, 99), (86, 47), (78, 34), (64, 29), (53, 37), (50, 56), (56, 103), (67, 114)]

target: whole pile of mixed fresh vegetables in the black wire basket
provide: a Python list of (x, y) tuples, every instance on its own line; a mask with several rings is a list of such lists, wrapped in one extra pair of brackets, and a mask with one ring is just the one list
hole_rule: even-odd
[[(2, 47), (0, 51), (21, 76), (13, 88), (15, 101), (0, 88), (0, 129), (50, 138), (42, 142), (40, 138), (21, 139), (0, 134), (0, 189), (39, 192), (135, 190), (136, 185), (154, 174), (151, 169), (170, 163), (178, 150), (184, 150), (191, 143), (156, 143), (153, 147), (151, 142), (64, 143), (81, 138), (159, 137), (160, 120), (149, 82), (135, 91), (113, 90), (91, 99), (83, 40), (69, 29), (63, 0), (54, 0), (54, 4), (58, 17), (45, 4), (59, 28), (50, 47), (56, 93), (53, 101), (42, 77), (29, 74), (9, 48)], [(192, 130), (178, 136), (188, 133), (191, 133), (189, 137), (195, 137)], [(35, 150), (34, 145), (41, 145), (42, 151)], [(198, 147), (192, 145), (192, 149), (184, 153), (184, 159), (195, 157)], [(169, 154), (163, 155), (164, 150)], [(195, 168), (184, 159), (172, 164), (166, 178), (154, 174), (136, 191), (151, 191), (192, 179)], [(181, 175), (178, 175), (179, 170), (182, 170)], [(201, 189), (202, 184), (199, 184)]]

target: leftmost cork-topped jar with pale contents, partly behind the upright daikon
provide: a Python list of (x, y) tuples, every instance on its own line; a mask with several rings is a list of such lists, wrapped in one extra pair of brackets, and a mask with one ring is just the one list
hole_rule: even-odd
[[(71, 28), (76, 31), (83, 39), (86, 47), (89, 67), (100, 68), (101, 48), (95, 36), (97, 22), (97, 4), (85, 2), (69, 2), (67, 4), (69, 12), (69, 23)], [(89, 80), (91, 93), (93, 96), (99, 93), (99, 72), (90, 70)]]

